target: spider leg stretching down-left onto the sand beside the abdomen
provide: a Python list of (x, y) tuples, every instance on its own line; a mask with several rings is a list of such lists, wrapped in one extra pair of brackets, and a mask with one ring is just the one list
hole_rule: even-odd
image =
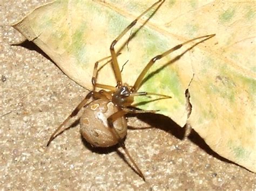
[(86, 97), (84, 98), (84, 100), (82, 102), (80, 102), (77, 107), (72, 111), (72, 113), (69, 115), (68, 118), (65, 119), (65, 121), (60, 124), (58, 126), (58, 128), (52, 133), (50, 139), (48, 140), (48, 143), (46, 146), (49, 146), (51, 141), (55, 138), (56, 135), (58, 135), (59, 132), (61, 132), (62, 128), (65, 126), (66, 123), (68, 123), (69, 119), (71, 119), (72, 117), (75, 117), (78, 112), (80, 111), (80, 109), (83, 108), (83, 106), (87, 103), (87, 101), (93, 96), (93, 91), (90, 91), (89, 94), (86, 95)]

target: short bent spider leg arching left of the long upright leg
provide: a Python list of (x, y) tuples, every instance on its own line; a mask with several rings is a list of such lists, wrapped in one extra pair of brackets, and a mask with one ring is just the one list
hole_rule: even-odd
[[(121, 54), (121, 53), (118, 53), (117, 56), (119, 56), (120, 54)], [(111, 62), (112, 59), (109, 60), (109, 61), (107, 61), (107, 62), (105, 63), (105, 65), (103, 65), (102, 67), (100, 67), (100, 68), (98, 69), (99, 62), (102, 62), (102, 61), (107, 60), (107, 59), (109, 59), (109, 58), (111, 58), (111, 56), (106, 56), (105, 58), (100, 59), (100, 60), (98, 60), (97, 62), (95, 62), (95, 65), (94, 65), (94, 68), (93, 68), (93, 74), (92, 74), (92, 86), (93, 86), (93, 90), (95, 90), (96, 87), (98, 87), (98, 88), (104, 88), (104, 89), (109, 89), (109, 90), (115, 90), (115, 89), (116, 89), (116, 88), (113, 87), (113, 86), (108, 86), (108, 85), (100, 84), (100, 83), (97, 83), (97, 82), (96, 82), (96, 81), (97, 81), (97, 76), (98, 76), (99, 70), (100, 70), (103, 66), (105, 66), (107, 63)]]

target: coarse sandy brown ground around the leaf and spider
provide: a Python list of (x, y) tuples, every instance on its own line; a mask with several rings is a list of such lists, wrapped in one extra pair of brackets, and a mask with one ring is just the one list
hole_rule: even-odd
[(196, 132), (157, 115), (129, 117), (125, 143), (144, 182), (122, 148), (95, 149), (79, 125), (45, 145), (87, 91), (65, 76), (35, 45), (9, 26), (42, 1), (4, 1), (1, 9), (0, 188), (4, 190), (256, 189), (256, 175), (214, 153)]

